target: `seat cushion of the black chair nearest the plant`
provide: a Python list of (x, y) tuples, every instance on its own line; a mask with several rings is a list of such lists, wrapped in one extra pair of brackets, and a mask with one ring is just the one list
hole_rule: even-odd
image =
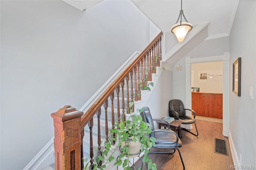
[(166, 133), (166, 132), (157, 132), (154, 135), (157, 141), (156, 146), (154, 147), (165, 148), (165, 147), (181, 147), (182, 146), (182, 142), (180, 138), (178, 138), (178, 145), (175, 143), (177, 139), (175, 134)]

